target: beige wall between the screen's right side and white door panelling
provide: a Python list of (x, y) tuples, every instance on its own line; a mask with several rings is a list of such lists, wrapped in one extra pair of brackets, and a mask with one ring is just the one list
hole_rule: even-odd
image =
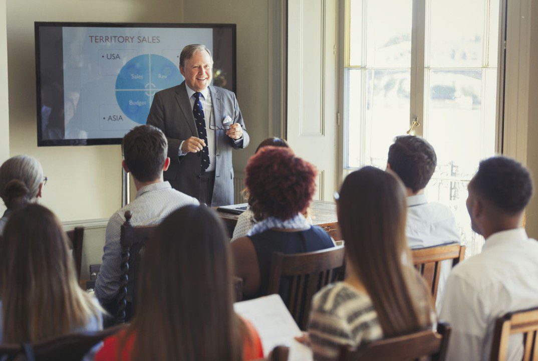
[(183, 6), (186, 23), (237, 24), (237, 100), (250, 135), (249, 147), (233, 153), (233, 168), (238, 177), (269, 133), (270, 1), (274, 0), (198, 0), (186, 1)]

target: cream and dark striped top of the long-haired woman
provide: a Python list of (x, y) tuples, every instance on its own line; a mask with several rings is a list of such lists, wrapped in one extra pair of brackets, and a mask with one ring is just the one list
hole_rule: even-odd
[(329, 284), (312, 300), (308, 325), (315, 360), (336, 360), (340, 346), (383, 338), (370, 297), (345, 282)]

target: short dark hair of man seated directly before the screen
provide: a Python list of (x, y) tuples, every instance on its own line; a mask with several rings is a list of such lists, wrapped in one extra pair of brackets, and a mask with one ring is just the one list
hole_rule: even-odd
[(140, 182), (159, 178), (166, 161), (168, 142), (159, 128), (144, 125), (123, 137), (123, 156), (132, 176)]

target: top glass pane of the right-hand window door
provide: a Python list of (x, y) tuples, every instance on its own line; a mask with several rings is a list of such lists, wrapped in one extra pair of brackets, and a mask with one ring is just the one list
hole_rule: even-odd
[[(497, 1), (493, 1), (497, 3)], [(429, 0), (426, 55), (430, 67), (482, 66), (484, 0)], [(428, 37), (429, 35), (429, 37)], [(492, 39), (496, 41), (497, 38)]]

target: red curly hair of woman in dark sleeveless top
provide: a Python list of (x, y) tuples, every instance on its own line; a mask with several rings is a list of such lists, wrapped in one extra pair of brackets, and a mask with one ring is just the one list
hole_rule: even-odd
[(246, 164), (245, 185), (254, 217), (286, 220), (306, 211), (317, 170), (289, 148), (264, 147)]

